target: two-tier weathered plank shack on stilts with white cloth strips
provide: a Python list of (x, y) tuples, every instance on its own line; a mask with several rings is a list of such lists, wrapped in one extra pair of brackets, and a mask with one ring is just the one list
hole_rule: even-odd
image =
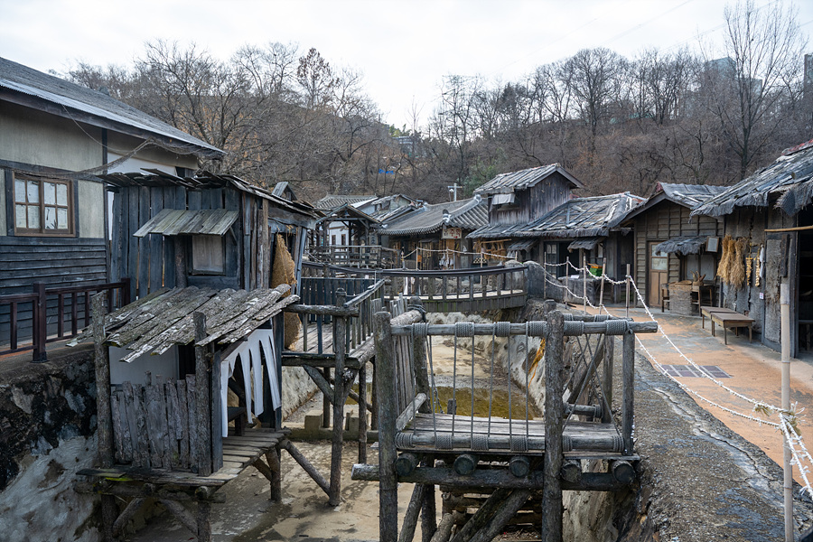
[[(279, 492), (282, 311), (299, 300), (315, 210), (232, 175), (102, 178), (114, 193), (111, 266), (138, 299), (95, 312), (76, 340), (96, 345), (102, 467), (80, 471), (79, 489), (102, 495), (106, 537), (157, 496), (210, 540), (214, 493), (243, 469)], [(255, 418), (266, 431), (243, 435)]]

